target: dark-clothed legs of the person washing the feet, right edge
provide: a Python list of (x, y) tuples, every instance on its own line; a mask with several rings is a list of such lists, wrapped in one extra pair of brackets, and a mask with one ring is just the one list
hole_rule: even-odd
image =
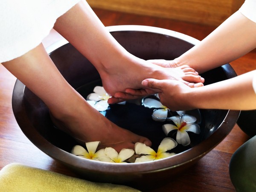
[(237, 124), (247, 135), (252, 137), (241, 145), (230, 161), (230, 178), (236, 190), (256, 191), (256, 110), (241, 111)]

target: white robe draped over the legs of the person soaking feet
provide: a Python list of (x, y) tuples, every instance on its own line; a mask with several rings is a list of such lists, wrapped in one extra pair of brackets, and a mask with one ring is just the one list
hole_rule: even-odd
[(24, 55), (79, 0), (0, 0), (0, 63)]

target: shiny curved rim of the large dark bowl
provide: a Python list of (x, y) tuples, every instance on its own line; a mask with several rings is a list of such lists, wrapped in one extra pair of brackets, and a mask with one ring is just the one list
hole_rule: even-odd
[[(192, 38), (188, 35), (184, 35), (179, 32), (174, 32), (168, 29), (162, 29), (151, 26), (108, 26), (106, 27), (109, 32), (119, 32), (119, 31), (141, 31), (141, 32), (152, 32), (163, 35), (172, 36), (179, 38), (183, 41), (187, 41), (191, 44), (197, 44), (199, 40)], [(67, 44), (67, 40), (62, 39), (55, 44), (52, 44), (47, 48), (47, 52), (50, 53), (55, 49)], [(230, 67), (231, 66), (225, 66)], [(142, 172), (156, 172), (163, 169), (172, 169), (174, 167), (182, 166), (183, 164), (195, 161), (201, 157), (204, 157), (212, 148), (214, 148), (218, 143), (223, 140), (227, 134), (232, 130), (233, 126), (236, 124), (236, 120), (239, 117), (240, 111), (228, 110), (224, 121), (216, 129), (216, 131), (208, 137), (206, 140), (202, 141), (198, 145), (176, 154), (172, 157), (167, 157), (161, 160), (155, 160), (153, 162), (143, 162), (143, 163), (106, 163), (94, 160), (87, 160), (81, 157), (77, 157), (61, 148), (56, 147), (52, 143), (49, 143), (39, 132), (33, 128), (32, 123), (29, 121), (26, 113), (22, 113), (24, 109), (23, 103), (23, 93), (25, 90), (25, 85), (17, 80), (12, 95), (12, 109), (15, 115), (15, 119), (20, 126), (23, 133), (28, 137), (28, 139), (37, 146), (45, 154), (49, 155), (55, 160), (61, 161), (62, 163), (74, 166), (77, 169), (87, 169), (94, 172), (108, 172), (108, 173), (142, 173)], [(236, 118), (234, 118), (237, 117)], [(232, 123), (232, 126), (226, 126), (227, 122)], [(224, 128), (221, 128), (224, 127)], [(225, 128), (226, 127), (226, 128)], [(221, 138), (218, 143), (215, 143), (215, 139)], [(203, 151), (203, 153), (202, 153)]]

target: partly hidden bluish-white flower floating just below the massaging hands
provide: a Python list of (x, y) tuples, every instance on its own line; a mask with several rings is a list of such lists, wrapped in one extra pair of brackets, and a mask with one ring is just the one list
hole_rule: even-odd
[(162, 105), (162, 103), (157, 99), (145, 98), (143, 99), (142, 105), (144, 105), (146, 108), (156, 108), (152, 114), (152, 118), (155, 121), (163, 122), (166, 120), (169, 109)]

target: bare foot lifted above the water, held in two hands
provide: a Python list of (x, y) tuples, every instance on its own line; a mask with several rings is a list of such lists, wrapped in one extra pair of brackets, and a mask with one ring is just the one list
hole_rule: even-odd
[(176, 68), (161, 67), (139, 58), (122, 60), (108, 65), (100, 71), (103, 87), (111, 95), (125, 92), (126, 88), (145, 88), (141, 82), (147, 78), (172, 79), (193, 87), (194, 83), (203, 83), (204, 79), (191, 67), (184, 65)]

